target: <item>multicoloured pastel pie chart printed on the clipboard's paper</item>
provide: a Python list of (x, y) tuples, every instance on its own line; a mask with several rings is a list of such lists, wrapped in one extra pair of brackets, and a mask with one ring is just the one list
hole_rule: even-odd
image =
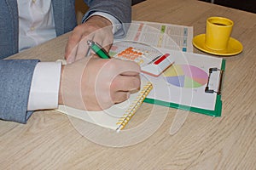
[(163, 75), (166, 82), (180, 88), (200, 88), (208, 81), (207, 72), (193, 65), (172, 65)]

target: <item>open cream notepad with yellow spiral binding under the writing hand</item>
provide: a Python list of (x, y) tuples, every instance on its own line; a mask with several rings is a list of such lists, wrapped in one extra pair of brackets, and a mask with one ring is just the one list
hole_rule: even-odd
[(56, 111), (119, 132), (119, 130), (123, 129), (131, 120), (131, 117), (136, 113), (140, 105), (142, 105), (143, 100), (147, 97), (152, 88), (152, 83), (142, 78), (140, 91), (131, 94), (129, 99), (113, 105), (107, 110), (82, 111), (66, 105), (59, 105), (59, 108)]

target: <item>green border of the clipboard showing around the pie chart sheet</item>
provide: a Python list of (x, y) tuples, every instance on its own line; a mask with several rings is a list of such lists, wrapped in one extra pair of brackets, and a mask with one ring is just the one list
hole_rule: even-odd
[[(225, 70), (225, 59), (222, 60), (222, 64), (221, 64), (221, 71)], [(220, 79), (220, 86), (222, 83), (222, 78)], [(205, 109), (201, 109), (201, 108), (196, 108), (196, 107), (191, 107), (189, 105), (179, 105), (176, 103), (170, 103), (170, 102), (166, 102), (166, 101), (162, 101), (162, 100), (158, 100), (158, 99), (150, 99), (150, 98), (146, 98), (144, 99), (145, 103), (149, 103), (149, 104), (154, 104), (154, 105), (163, 105), (166, 107), (172, 107), (175, 109), (180, 109), (180, 110), (184, 110), (184, 111), (192, 111), (192, 112), (196, 112), (196, 113), (201, 113), (207, 116), (221, 116), (221, 111), (222, 111), (222, 100), (221, 100), (221, 94), (218, 93), (217, 94), (217, 98), (216, 98), (216, 105), (215, 105), (215, 109), (214, 110), (205, 110)]]

